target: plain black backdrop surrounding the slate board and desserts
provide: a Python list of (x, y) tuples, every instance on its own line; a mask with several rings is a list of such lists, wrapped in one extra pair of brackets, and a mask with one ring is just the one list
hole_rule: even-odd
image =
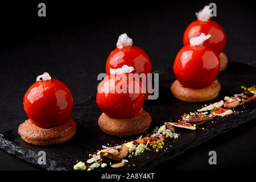
[[(46, 3), (46, 17), (38, 17), (40, 2)], [(185, 28), (210, 2), (217, 4), (213, 19), (227, 34), (229, 61), (256, 67), (256, 9), (250, 2), (1, 2), (0, 133), (18, 127), (16, 119), (26, 119), (24, 93), (43, 72), (68, 85), (74, 104), (96, 94), (97, 75), (105, 72), (106, 59), (123, 32), (148, 53), (152, 71), (170, 67), (183, 46)], [(251, 121), (154, 169), (249, 168), (256, 163), (255, 132)], [(216, 166), (208, 164), (211, 150), (217, 152)], [(0, 150), (0, 170), (38, 169)]]

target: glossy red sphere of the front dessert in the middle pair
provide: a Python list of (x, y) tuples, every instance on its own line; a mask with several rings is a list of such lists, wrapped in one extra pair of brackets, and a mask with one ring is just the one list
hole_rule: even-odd
[[(127, 81), (125, 81), (127, 80)], [(136, 84), (138, 92), (129, 93), (129, 86)], [(126, 88), (123, 87), (126, 85)], [(122, 92), (126, 90), (126, 93)], [(96, 102), (100, 109), (111, 118), (131, 118), (141, 113), (144, 103), (144, 87), (139, 78), (134, 81), (128, 74), (108, 75), (98, 86)]]

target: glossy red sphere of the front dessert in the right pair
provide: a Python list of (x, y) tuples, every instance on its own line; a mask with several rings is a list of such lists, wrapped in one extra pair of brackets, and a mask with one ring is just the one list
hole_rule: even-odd
[(188, 88), (210, 86), (218, 75), (220, 59), (208, 44), (184, 46), (177, 53), (174, 74), (180, 84)]

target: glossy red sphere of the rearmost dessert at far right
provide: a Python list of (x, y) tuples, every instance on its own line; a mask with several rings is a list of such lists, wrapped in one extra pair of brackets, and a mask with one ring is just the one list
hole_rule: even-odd
[(189, 45), (189, 39), (199, 36), (201, 33), (205, 35), (210, 34), (211, 37), (205, 41), (205, 43), (210, 44), (212, 48), (219, 55), (226, 44), (226, 34), (223, 28), (217, 22), (213, 20), (208, 20), (207, 22), (202, 22), (200, 20), (195, 20), (186, 28), (183, 35), (184, 46)]

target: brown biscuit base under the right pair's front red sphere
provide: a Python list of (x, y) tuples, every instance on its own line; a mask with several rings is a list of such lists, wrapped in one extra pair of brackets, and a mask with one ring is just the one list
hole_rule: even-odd
[(213, 100), (218, 96), (221, 85), (218, 80), (214, 80), (212, 85), (203, 89), (192, 89), (180, 86), (180, 82), (175, 80), (171, 86), (174, 97), (185, 102), (204, 102)]

